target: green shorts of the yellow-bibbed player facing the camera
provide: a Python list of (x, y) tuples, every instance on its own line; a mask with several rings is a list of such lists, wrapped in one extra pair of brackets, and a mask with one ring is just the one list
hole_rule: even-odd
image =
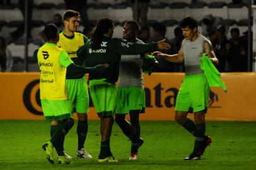
[(88, 113), (89, 94), (86, 79), (66, 79), (67, 96), (76, 113)]

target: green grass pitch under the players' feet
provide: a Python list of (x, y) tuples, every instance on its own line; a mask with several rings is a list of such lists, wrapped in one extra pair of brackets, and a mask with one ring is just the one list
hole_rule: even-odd
[(49, 164), (42, 144), (49, 140), (44, 121), (0, 121), (0, 169), (256, 169), (256, 122), (207, 122), (212, 145), (201, 161), (182, 161), (192, 151), (194, 138), (175, 122), (141, 122), (144, 145), (139, 159), (128, 161), (131, 142), (114, 125), (112, 152), (118, 163), (98, 163), (100, 122), (89, 122), (86, 150), (91, 160), (78, 159), (76, 124), (66, 136), (66, 152), (74, 164)]

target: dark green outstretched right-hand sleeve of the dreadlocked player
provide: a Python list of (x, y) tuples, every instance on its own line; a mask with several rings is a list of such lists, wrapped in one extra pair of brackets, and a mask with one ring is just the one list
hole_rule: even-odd
[(108, 48), (119, 55), (143, 54), (153, 52), (157, 48), (156, 43), (129, 43), (119, 38), (112, 38)]

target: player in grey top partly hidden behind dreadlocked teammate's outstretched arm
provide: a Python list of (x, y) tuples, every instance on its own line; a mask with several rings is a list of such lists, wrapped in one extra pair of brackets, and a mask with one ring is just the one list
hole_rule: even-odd
[[(127, 21), (124, 25), (123, 38), (131, 43), (144, 43), (137, 39), (138, 32), (137, 21)], [(115, 122), (132, 142), (129, 160), (137, 159), (138, 149), (144, 142), (140, 138), (139, 125), (139, 114), (145, 110), (144, 79), (141, 69), (143, 57), (144, 54), (122, 55), (120, 61)], [(131, 123), (125, 120), (127, 113), (130, 113)]]

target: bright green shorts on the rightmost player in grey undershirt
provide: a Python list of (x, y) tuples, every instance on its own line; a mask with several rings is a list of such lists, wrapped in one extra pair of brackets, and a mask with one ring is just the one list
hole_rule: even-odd
[(204, 74), (185, 76), (178, 91), (176, 111), (206, 111), (209, 103), (210, 88)]

